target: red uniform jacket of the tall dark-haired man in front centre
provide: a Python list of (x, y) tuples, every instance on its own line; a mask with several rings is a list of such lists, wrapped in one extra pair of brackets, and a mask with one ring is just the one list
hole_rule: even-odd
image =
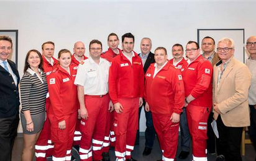
[(121, 52), (113, 60), (109, 68), (109, 95), (113, 103), (118, 98), (143, 97), (144, 71), (137, 53), (132, 57), (132, 64)]

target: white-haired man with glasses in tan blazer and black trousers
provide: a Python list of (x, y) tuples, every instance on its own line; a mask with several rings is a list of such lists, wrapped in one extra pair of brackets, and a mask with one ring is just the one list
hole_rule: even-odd
[(214, 119), (219, 131), (217, 160), (242, 161), (240, 144), (244, 126), (250, 125), (248, 91), (251, 74), (234, 58), (234, 41), (222, 38), (217, 44), (221, 61), (213, 71)]

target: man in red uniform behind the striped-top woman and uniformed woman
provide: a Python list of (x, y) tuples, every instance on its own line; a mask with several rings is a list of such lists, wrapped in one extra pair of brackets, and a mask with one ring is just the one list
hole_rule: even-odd
[[(55, 45), (52, 41), (47, 41), (42, 44), (43, 71), (46, 74), (47, 80), (53, 69), (58, 65), (58, 60), (53, 58), (54, 48)], [(46, 98), (45, 108), (47, 112), (47, 118), (43, 124), (43, 129), (40, 133), (39, 139), (35, 144), (35, 158), (37, 161), (46, 161), (47, 157), (52, 156), (53, 152), (53, 144), (50, 139), (50, 121), (48, 119), (49, 106), (50, 99)]]

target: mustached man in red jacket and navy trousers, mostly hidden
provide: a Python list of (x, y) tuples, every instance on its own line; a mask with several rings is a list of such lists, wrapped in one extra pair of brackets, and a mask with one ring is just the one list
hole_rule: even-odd
[[(181, 74), (183, 74), (184, 69), (188, 66), (188, 63), (183, 58), (183, 46), (176, 43), (171, 49), (173, 59), (170, 60), (170, 63), (173, 64), (173, 66), (178, 67)], [(186, 120), (186, 108), (183, 108), (180, 115), (180, 136), (181, 152), (178, 157), (179, 159), (186, 159), (190, 154), (190, 131), (188, 130), (188, 121)]]

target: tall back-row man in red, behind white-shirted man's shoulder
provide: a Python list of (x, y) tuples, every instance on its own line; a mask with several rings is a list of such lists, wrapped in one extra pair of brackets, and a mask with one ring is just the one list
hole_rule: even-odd
[[(118, 48), (119, 38), (116, 33), (110, 33), (107, 37), (108, 50), (101, 54), (101, 58), (107, 59), (111, 62), (114, 57), (120, 54), (122, 51)], [(114, 135), (114, 113), (110, 110), (113, 103), (110, 102), (109, 109), (107, 111), (107, 123), (106, 123), (106, 133), (103, 142), (103, 160), (109, 161), (109, 146), (114, 147), (116, 137)]]

